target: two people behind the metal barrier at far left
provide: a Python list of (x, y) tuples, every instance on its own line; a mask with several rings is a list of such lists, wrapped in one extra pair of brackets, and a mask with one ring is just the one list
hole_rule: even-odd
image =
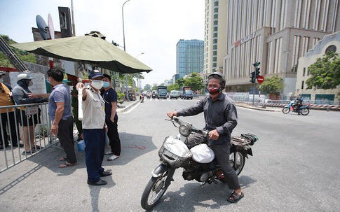
[[(20, 73), (17, 78), (17, 84), (13, 89), (8, 83), (4, 83), (3, 76), (7, 73), (0, 71), (0, 106), (13, 106), (15, 104), (34, 104), (46, 102), (45, 98), (30, 99), (29, 93), (32, 91), (29, 86), (33, 85), (32, 77), (28, 76), (27, 73)], [(28, 111), (37, 111), (37, 113), (30, 114)], [(36, 145), (34, 142), (34, 127), (41, 122), (40, 113), (41, 110), (38, 106), (33, 107), (11, 107), (1, 109), (1, 122), (2, 130), (0, 137), (0, 149), (4, 149), (8, 146), (19, 146), (24, 147), (25, 150), (22, 152), (23, 155), (35, 153), (36, 150), (41, 149), (41, 146)], [(16, 113), (16, 114), (14, 114)], [(8, 114), (8, 116), (7, 116)], [(16, 120), (15, 120), (16, 117)], [(21, 128), (18, 126), (20, 124)], [(22, 129), (21, 134), (19, 129)], [(8, 132), (7, 132), (8, 130)], [(8, 134), (10, 135), (8, 138)], [(18, 138), (20, 134), (20, 138)], [(4, 137), (4, 140), (2, 139)], [(20, 140), (24, 144), (20, 143)]]

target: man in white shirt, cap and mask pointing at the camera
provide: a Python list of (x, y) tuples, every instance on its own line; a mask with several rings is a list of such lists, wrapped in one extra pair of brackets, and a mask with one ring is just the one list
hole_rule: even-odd
[[(100, 95), (100, 89), (104, 82), (102, 73), (98, 70), (90, 71), (88, 75), (90, 85), (85, 87), (78, 83), (76, 89), (83, 88), (83, 139), (85, 141), (85, 162), (88, 172), (88, 185), (106, 185), (107, 181), (100, 177), (110, 176), (112, 173), (104, 171), (102, 161), (104, 159), (105, 125), (104, 100)], [(80, 107), (80, 106), (79, 106)]]

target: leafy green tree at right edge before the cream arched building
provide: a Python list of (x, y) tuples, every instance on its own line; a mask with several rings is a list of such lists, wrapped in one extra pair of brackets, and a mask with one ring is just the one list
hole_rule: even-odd
[(340, 57), (336, 52), (327, 51), (308, 70), (311, 77), (306, 80), (307, 88), (333, 89), (340, 85)]

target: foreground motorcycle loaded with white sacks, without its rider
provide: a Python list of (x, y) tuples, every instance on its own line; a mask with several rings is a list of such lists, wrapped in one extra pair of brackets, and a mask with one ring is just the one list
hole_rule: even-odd
[[(165, 119), (167, 120), (167, 119)], [(142, 208), (153, 209), (165, 194), (176, 169), (182, 167), (183, 178), (186, 181), (196, 180), (205, 185), (206, 183), (226, 183), (223, 171), (215, 159), (214, 152), (205, 143), (200, 143), (189, 150), (185, 143), (192, 133), (197, 133), (202, 138), (208, 138), (208, 131), (193, 127), (190, 123), (173, 117), (172, 124), (179, 129), (179, 134), (173, 138), (168, 136), (163, 146), (158, 151), (161, 164), (151, 171), (151, 179), (144, 189), (141, 199)], [(201, 139), (204, 141), (203, 139)], [(241, 134), (231, 138), (229, 161), (236, 174), (240, 174), (245, 166), (245, 157), (252, 155), (252, 146), (258, 140), (253, 134)]]

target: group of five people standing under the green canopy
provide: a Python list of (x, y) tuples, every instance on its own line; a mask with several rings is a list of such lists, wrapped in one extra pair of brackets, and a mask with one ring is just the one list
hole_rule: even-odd
[[(88, 185), (105, 185), (107, 181), (100, 179), (100, 177), (110, 176), (110, 171), (104, 171), (102, 167), (102, 161), (104, 155), (111, 155), (108, 161), (116, 160), (121, 155), (121, 141), (118, 134), (118, 115), (116, 113), (117, 107), (117, 93), (111, 87), (111, 76), (102, 74), (98, 70), (90, 71), (88, 76), (89, 83), (85, 87), (83, 83), (78, 83), (76, 80), (73, 82), (73, 90), (70, 92), (69, 86), (62, 83), (64, 79), (63, 71), (57, 69), (50, 69), (47, 72), (48, 83), (53, 87), (53, 90), (49, 94), (36, 94), (29, 89), (29, 86), (33, 85), (32, 80), (27, 73), (20, 73), (18, 75), (18, 85), (12, 90), (11, 86), (2, 83), (1, 77), (6, 73), (0, 73), (0, 90), (4, 92), (4, 95), (0, 95), (1, 106), (14, 105), (14, 104), (32, 104), (48, 101), (48, 113), (52, 125), (50, 127), (50, 133), (57, 135), (60, 141), (60, 145), (64, 149), (65, 156), (60, 158), (63, 163), (59, 165), (60, 168), (72, 167), (77, 164), (76, 153), (74, 150), (74, 136), (73, 125), (76, 122), (76, 127), (79, 130), (79, 137), (77, 141), (83, 139), (85, 141), (85, 155), (86, 155), (86, 169), (88, 173)], [(83, 108), (83, 120), (78, 118), (79, 106), (78, 103), (78, 91), (82, 89), (82, 108)], [(102, 92), (100, 92), (102, 90)], [(13, 93), (13, 99), (11, 101), (11, 94)], [(6, 94), (6, 95), (5, 95)], [(73, 113), (72, 113), (73, 107)], [(19, 127), (13, 127), (15, 122), (10, 122), (11, 142), (13, 146), (25, 147), (23, 154), (32, 154), (36, 148), (42, 148), (37, 146), (34, 142), (34, 127), (40, 123), (40, 108), (39, 113), (34, 115), (26, 114), (26, 107), (20, 107), (18, 110), (14, 108), (5, 109), (10, 116), (9, 120), (14, 120), (14, 111), (17, 111), (17, 118), (20, 125), (23, 126), (23, 132), (20, 135), (25, 145), (21, 144), (16, 137), (18, 134), (15, 129)], [(6, 129), (7, 111), (1, 112), (1, 121), (4, 122), (3, 126)], [(13, 116), (13, 119), (12, 119)], [(0, 148), (9, 146), (7, 133), (1, 132), (1, 145)], [(4, 136), (4, 141), (2, 137)], [(111, 150), (104, 153), (105, 142), (108, 137)]]

